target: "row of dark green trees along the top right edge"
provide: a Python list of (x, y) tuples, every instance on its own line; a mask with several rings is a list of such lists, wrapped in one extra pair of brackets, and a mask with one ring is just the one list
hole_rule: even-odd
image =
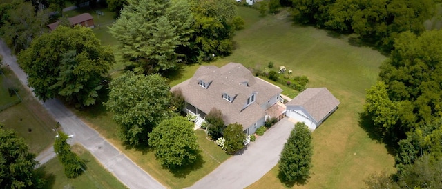
[(435, 12), (433, 0), (291, 0), (282, 4), (292, 6), (301, 23), (354, 32), (385, 51), (394, 48), (401, 32), (424, 32), (423, 22)]

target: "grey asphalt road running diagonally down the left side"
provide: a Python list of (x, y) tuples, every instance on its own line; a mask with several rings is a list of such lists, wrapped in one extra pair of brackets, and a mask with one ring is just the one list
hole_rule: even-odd
[[(0, 54), (3, 56), (3, 64), (9, 65), (23, 85), (28, 86), (26, 74), (19, 68), (10, 49), (3, 41), (0, 41)], [(102, 163), (104, 168), (113, 173), (119, 181), (128, 188), (164, 188), (161, 183), (153, 179), (151, 175), (138, 167), (131, 159), (122, 154), (117, 148), (108, 143), (99, 133), (87, 126), (79, 117), (73, 114), (61, 101), (52, 99), (42, 103), (50, 115), (55, 118), (68, 135), (74, 135), (71, 143), (80, 143), (88, 149), (95, 158)], [(42, 161), (48, 161), (55, 155), (50, 149), (39, 156)]]

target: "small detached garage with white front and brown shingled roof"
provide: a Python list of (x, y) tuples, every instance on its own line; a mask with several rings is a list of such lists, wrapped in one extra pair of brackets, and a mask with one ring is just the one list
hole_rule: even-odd
[(339, 100), (327, 88), (307, 88), (285, 104), (286, 115), (315, 130), (339, 104)]

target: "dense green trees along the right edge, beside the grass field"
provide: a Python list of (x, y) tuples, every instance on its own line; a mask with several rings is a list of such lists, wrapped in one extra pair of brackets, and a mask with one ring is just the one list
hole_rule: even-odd
[[(441, 31), (398, 35), (379, 79), (367, 90), (362, 118), (395, 152), (395, 175), (377, 175), (367, 184), (397, 188), (441, 188)], [(435, 167), (435, 168), (434, 168)], [(388, 181), (385, 183), (385, 181)]]

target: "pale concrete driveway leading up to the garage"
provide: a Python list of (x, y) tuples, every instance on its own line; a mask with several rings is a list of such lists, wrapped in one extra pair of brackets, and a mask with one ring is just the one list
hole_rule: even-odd
[(245, 188), (276, 166), (284, 144), (294, 128), (287, 117), (251, 142), (240, 155), (224, 161), (190, 188)]

